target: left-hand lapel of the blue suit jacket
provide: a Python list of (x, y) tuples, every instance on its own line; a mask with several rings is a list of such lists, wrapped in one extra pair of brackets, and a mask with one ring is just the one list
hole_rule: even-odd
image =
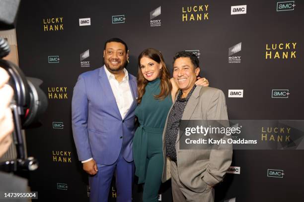
[(100, 68), (99, 78), (98, 78), (99, 83), (101, 85), (101, 88), (102, 88), (104, 94), (106, 95), (105, 99), (107, 99), (110, 103), (113, 103), (113, 104), (111, 104), (111, 107), (112, 107), (113, 111), (115, 111), (116, 117), (119, 119), (122, 119), (121, 114), (119, 112), (119, 108), (117, 106), (117, 102), (115, 100), (115, 96), (113, 94), (109, 79), (107, 77), (107, 74), (106, 74), (104, 68), (106, 68), (104, 65)]

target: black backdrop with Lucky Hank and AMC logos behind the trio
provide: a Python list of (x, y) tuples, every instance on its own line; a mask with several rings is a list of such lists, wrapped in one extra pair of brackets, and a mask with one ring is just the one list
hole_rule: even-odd
[[(71, 99), (78, 75), (103, 64), (103, 46), (109, 38), (119, 37), (128, 44), (127, 69), (133, 75), (137, 56), (146, 48), (160, 50), (170, 71), (176, 51), (199, 52), (201, 76), (225, 93), (229, 119), (304, 119), (304, 3), (291, 3), (290, 10), (277, 11), (276, 0), (21, 1), (16, 27), (19, 64), (27, 76), (44, 81), (42, 89), (49, 97), (43, 126), (26, 131), (28, 153), (40, 163), (29, 176), (38, 201), (88, 201), (87, 175), (72, 137)], [(202, 5), (203, 11), (193, 11), (195, 5)], [(246, 13), (231, 15), (235, 5), (246, 5)], [(161, 11), (152, 20), (160, 20), (161, 26), (152, 27), (150, 12), (159, 6)], [(183, 14), (187, 21), (182, 21)], [(190, 20), (191, 14), (195, 20)], [(117, 15), (124, 15), (118, 21), (122, 23), (112, 23)], [(90, 18), (90, 25), (79, 26), (80, 18)], [(229, 63), (228, 50), (239, 43), (241, 49), (234, 49), (238, 52), (231, 56), (240, 56), (240, 63)], [(288, 43), (290, 49), (285, 49)], [(297, 43), (295, 49), (292, 43)], [(276, 50), (266, 50), (275, 44)], [(89, 61), (89, 67), (81, 67), (80, 54), (86, 50), (89, 57), (83, 61)], [(266, 59), (266, 51), (272, 51), (271, 59)], [(274, 58), (277, 51), (280, 58)], [(288, 58), (282, 58), (283, 52)], [(243, 90), (243, 98), (228, 97), (228, 90), (235, 89)], [(272, 90), (289, 90), (290, 95), (274, 99)], [(240, 174), (227, 174), (216, 187), (216, 201), (302, 201), (303, 154), (234, 151), (231, 166), (239, 167)], [(284, 177), (267, 177), (268, 169), (283, 170)], [(134, 192), (134, 201), (141, 201), (141, 187), (135, 186)], [(163, 185), (161, 194), (162, 201), (172, 201), (170, 183)], [(112, 189), (110, 201), (115, 201)]]

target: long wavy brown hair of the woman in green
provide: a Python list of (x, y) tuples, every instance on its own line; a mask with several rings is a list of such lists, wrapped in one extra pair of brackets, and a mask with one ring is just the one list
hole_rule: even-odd
[(162, 54), (156, 49), (146, 49), (138, 56), (138, 73), (137, 73), (137, 91), (138, 91), (138, 103), (141, 103), (143, 96), (145, 94), (145, 88), (148, 84), (148, 80), (145, 79), (141, 70), (141, 59), (142, 57), (148, 57), (157, 63), (162, 65), (161, 71), (159, 72), (160, 79), (160, 93), (159, 95), (154, 95), (155, 99), (164, 99), (167, 97), (172, 90), (172, 84), (170, 81), (169, 72), (167, 66), (163, 60)]

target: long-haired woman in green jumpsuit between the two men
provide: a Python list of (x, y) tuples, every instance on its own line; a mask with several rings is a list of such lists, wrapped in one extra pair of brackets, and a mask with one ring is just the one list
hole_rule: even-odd
[[(139, 105), (135, 115), (140, 126), (133, 139), (135, 175), (139, 184), (145, 183), (143, 202), (157, 202), (163, 168), (162, 132), (178, 88), (158, 50), (144, 50), (138, 64)], [(208, 85), (205, 78), (200, 83)]]

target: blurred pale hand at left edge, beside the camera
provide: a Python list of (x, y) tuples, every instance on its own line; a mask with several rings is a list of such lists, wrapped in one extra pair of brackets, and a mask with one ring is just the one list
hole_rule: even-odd
[(10, 134), (14, 129), (10, 101), (13, 97), (13, 89), (7, 85), (9, 76), (0, 67), (0, 157), (7, 151), (11, 144)]

